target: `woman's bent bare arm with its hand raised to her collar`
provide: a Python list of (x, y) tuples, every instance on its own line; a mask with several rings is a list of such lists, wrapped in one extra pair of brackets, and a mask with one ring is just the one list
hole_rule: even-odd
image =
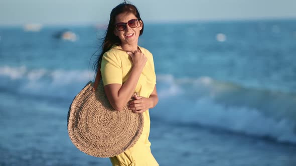
[(127, 54), (131, 56), (133, 62), (133, 66), (127, 80), (122, 85), (119, 83), (111, 83), (104, 86), (106, 96), (112, 107), (116, 110), (121, 110), (129, 101), (147, 61), (146, 56), (142, 52), (127, 52)]

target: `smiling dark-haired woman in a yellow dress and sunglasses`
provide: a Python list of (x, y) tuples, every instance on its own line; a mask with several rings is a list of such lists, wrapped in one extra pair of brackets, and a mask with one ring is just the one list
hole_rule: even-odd
[(140, 96), (130, 102), (133, 113), (143, 113), (144, 126), (137, 142), (123, 153), (110, 157), (113, 165), (159, 165), (151, 153), (149, 108), (158, 103), (156, 75), (152, 53), (138, 46), (138, 37), (144, 29), (137, 8), (126, 2), (117, 5), (102, 43), (101, 73), (106, 96), (110, 104), (120, 111), (134, 91)]

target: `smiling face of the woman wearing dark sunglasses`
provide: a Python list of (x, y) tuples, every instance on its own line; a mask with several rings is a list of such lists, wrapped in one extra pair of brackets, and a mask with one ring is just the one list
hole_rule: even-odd
[[(136, 19), (137, 17), (130, 13), (124, 12), (120, 13), (115, 17), (115, 24), (119, 22), (128, 22), (131, 19)], [(128, 45), (137, 45), (138, 37), (140, 34), (140, 30), (142, 29), (141, 20), (138, 20), (137, 26), (131, 28), (128, 24), (124, 30), (119, 31), (116, 27), (114, 28), (114, 34), (119, 37), (121, 41), (121, 45), (128, 44)]]

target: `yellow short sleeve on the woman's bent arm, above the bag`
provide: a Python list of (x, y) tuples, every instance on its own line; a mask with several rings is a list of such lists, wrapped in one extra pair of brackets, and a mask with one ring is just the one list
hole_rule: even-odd
[(121, 60), (113, 52), (105, 52), (102, 57), (101, 74), (103, 84), (122, 84)]

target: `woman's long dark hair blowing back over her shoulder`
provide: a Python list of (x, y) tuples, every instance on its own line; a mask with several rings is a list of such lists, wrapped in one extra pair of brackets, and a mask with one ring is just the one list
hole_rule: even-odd
[(124, 13), (124, 12), (129, 12), (134, 14), (138, 20), (142, 25), (142, 29), (140, 30), (140, 34), (141, 35), (143, 33), (144, 30), (144, 23), (140, 17), (140, 13), (138, 11), (138, 9), (132, 5), (127, 3), (126, 1), (124, 1), (123, 3), (118, 4), (116, 7), (114, 7), (110, 13), (110, 20), (109, 20), (109, 24), (106, 30), (106, 35), (105, 37), (103, 37), (102, 39), (104, 40), (101, 44), (101, 53), (98, 55), (97, 60), (94, 63), (94, 69), (97, 72), (98, 71), (98, 67), (99, 67), (99, 63), (102, 60), (103, 54), (108, 51), (114, 44), (115, 45), (120, 45), (120, 39), (118, 36), (116, 36), (114, 34), (114, 23), (115, 23), (115, 18), (118, 14)]

